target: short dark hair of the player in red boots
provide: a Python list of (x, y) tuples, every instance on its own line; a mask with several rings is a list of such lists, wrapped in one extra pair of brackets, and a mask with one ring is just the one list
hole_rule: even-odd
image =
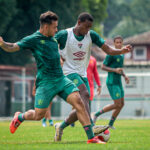
[(57, 21), (58, 16), (52, 11), (47, 11), (40, 15), (40, 25), (51, 24), (52, 21)]

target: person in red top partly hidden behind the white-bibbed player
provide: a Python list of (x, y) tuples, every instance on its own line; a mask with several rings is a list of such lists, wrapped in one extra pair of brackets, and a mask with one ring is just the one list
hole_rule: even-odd
[(91, 102), (94, 98), (94, 79), (97, 84), (97, 95), (100, 95), (101, 93), (101, 81), (99, 77), (99, 73), (97, 71), (97, 62), (96, 59), (91, 55), (89, 60), (89, 65), (87, 68), (87, 78), (90, 86), (90, 98), (89, 98), (89, 105), (91, 108)]

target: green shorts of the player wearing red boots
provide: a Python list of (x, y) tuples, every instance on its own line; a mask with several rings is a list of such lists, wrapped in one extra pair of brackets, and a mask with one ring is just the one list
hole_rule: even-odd
[(57, 81), (47, 81), (36, 89), (35, 108), (47, 108), (56, 95), (66, 100), (68, 95), (75, 91), (79, 89), (66, 76)]

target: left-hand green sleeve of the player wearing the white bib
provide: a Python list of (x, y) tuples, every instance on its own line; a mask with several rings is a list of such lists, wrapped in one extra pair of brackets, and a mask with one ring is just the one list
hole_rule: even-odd
[(61, 30), (55, 34), (55, 38), (59, 44), (59, 49), (62, 50), (66, 46), (68, 32), (67, 30)]

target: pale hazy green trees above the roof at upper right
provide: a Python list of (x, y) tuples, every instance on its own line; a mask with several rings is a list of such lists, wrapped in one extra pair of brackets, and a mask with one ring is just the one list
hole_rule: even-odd
[(132, 36), (150, 30), (150, 0), (111, 1), (105, 20), (105, 36)]

